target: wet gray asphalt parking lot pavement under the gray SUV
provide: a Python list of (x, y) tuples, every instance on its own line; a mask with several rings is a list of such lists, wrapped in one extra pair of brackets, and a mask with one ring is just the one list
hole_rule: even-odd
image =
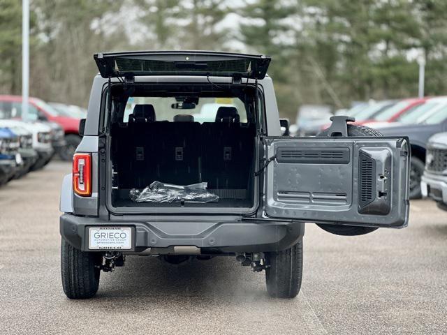
[(336, 237), (309, 224), (296, 299), (234, 258), (168, 265), (129, 257), (98, 295), (71, 301), (59, 274), (59, 188), (68, 163), (0, 190), (1, 334), (445, 334), (447, 214), (411, 204), (409, 228)]

